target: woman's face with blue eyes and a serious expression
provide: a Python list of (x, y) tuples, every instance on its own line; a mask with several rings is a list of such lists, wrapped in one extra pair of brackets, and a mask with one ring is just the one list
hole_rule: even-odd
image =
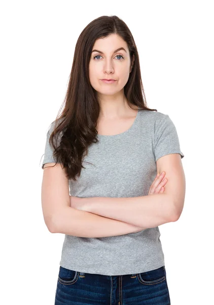
[[(131, 68), (127, 43), (120, 36), (111, 34), (95, 41), (89, 62), (89, 78), (98, 96), (119, 93), (128, 81)], [(115, 81), (106, 83), (102, 79)]]

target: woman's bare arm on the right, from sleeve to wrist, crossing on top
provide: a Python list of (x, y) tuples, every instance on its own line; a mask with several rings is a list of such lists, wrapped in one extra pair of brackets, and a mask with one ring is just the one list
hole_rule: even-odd
[(79, 209), (141, 228), (153, 228), (176, 221), (183, 210), (186, 188), (180, 154), (159, 158), (157, 171), (163, 170), (168, 179), (163, 194), (128, 198), (81, 198)]

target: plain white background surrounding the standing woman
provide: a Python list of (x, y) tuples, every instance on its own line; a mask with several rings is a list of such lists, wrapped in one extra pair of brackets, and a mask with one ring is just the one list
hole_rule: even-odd
[(42, 214), (46, 133), (74, 49), (102, 15), (129, 26), (148, 107), (176, 126), (186, 175), (179, 221), (159, 226), (172, 305), (213, 301), (212, 1), (1, 2), (1, 303), (54, 304), (63, 234)]

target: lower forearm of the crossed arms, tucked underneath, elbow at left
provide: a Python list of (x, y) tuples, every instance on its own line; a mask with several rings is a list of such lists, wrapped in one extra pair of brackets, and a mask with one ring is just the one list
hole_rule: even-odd
[(58, 213), (52, 228), (52, 233), (78, 237), (118, 236), (146, 229), (72, 207), (63, 208)]

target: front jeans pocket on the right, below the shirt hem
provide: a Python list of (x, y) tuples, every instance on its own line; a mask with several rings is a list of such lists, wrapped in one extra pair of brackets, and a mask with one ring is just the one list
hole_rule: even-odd
[(166, 280), (165, 266), (158, 269), (137, 273), (137, 278), (141, 284), (154, 285)]

